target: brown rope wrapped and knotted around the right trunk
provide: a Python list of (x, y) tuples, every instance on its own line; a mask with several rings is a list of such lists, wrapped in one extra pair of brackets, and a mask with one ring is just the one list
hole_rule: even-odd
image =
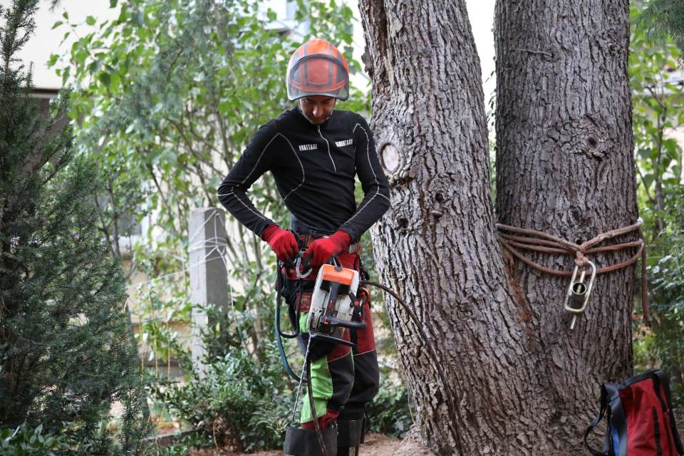
[[(572, 271), (559, 271), (558, 269), (551, 269), (547, 268), (546, 266), (541, 266), (541, 264), (532, 261), (532, 259), (529, 259), (529, 257), (520, 252), (520, 249), (534, 250), (535, 252), (546, 252), (550, 254), (574, 255), (575, 264), (577, 264), (579, 267), (584, 267), (588, 264), (588, 260), (586, 259), (586, 255), (588, 254), (595, 254), (598, 252), (614, 252), (622, 249), (636, 248), (636, 254), (634, 254), (633, 257), (627, 261), (598, 268), (596, 270), (596, 274), (616, 271), (617, 269), (634, 264), (639, 257), (641, 257), (641, 309), (643, 309), (644, 320), (647, 322), (649, 321), (648, 285), (646, 284), (646, 242), (644, 241), (643, 234), (641, 232), (641, 219), (638, 219), (635, 224), (631, 224), (628, 227), (612, 229), (611, 231), (598, 234), (598, 236), (594, 237), (594, 239), (589, 239), (589, 241), (583, 242), (582, 244), (574, 244), (551, 234), (537, 231), (536, 229), (511, 227), (509, 225), (500, 223), (497, 223), (496, 226), (499, 230), (499, 237), (501, 238), (502, 245), (517, 259), (535, 269), (539, 269), (539, 271), (546, 272), (547, 274), (553, 274), (554, 276), (571, 276)], [(601, 244), (601, 242), (605, 241), (606, 239), (611, 239), (613, 237), (621, 236), (622, 234), (627, 234), (634, 231), (639, 233), (638, 241), (623, 242), (621, 244), (608, 245), (604, 247), (595, 247), (597, 244)]]

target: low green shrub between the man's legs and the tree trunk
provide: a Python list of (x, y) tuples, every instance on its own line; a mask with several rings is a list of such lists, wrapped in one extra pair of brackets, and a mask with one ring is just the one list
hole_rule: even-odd
[(381, 432), (390, 437), (404, 437), (411, 425), (408, 390), (402, 382), (392, 380), (390, 375), (380, 376), (380, 390), (373, 401), (366, 405), (369, 432)]

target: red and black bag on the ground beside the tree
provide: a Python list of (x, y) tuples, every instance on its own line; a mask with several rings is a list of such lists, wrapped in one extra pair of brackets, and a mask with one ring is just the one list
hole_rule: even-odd
[[(607, 411), (603, 451), (586, 438)], [(677, 456), (684, 453), (672, 413), (670, 385), (663, 371), (648, 371), (623, 383), (601, 385), (601, 410), (584, 432), (594, 456)]]

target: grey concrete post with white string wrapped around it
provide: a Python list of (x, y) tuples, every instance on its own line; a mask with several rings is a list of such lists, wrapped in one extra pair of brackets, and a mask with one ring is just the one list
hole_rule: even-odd
[(228, 303), (228, 271), (222, 257), (225, 253), (225, 214), (216, 207), (200, 207), (190, 212), (188, 232), (190, 242), (190, 302), (192, 309), (192, 365), (204, 378), (202, 363), (207, 353), (202, 343), (202, 331), (213, 324), (206, 311), (207, 304), (225, 311)]

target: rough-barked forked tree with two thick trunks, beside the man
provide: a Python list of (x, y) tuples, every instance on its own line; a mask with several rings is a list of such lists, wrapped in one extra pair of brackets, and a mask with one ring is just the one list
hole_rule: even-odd
[[(499, 25), (497, 38), (499, 52), (509, 53), (499, 57), (499, 98), (502, 90), (517, 97), (499, 108), (507, 116), (497, 125), (502, 221), (571, 241), (633, 222), (627, 2), (504, 3), (499, 21), (514, 22), (508, 9), (520, 17)], [(601, 277), (588, 319), (569, 331), (566, 280), (512, 269), (498, 241), (480, 62), (464, 1), (359, 6), (373, 131), (392, 187), (390, 212), (373, 231), (380, 280), (413, 306), (451, 383), (443, 388), (425, 341), (385, 296), (423, 436), (443, 455), (584, 454), (579, 429), (594, 412), (596, 383), (629, 373), (633, 269)], [(603, 16), (587, 16), (596, 10)], [(591, 53), (577, 58), (584, 41)], [(545, 54), (529, 51), (547, 52), (549, 42), (554, 65), (543, 66)], [(523, 103), (529, 90), (533, 100)]]

